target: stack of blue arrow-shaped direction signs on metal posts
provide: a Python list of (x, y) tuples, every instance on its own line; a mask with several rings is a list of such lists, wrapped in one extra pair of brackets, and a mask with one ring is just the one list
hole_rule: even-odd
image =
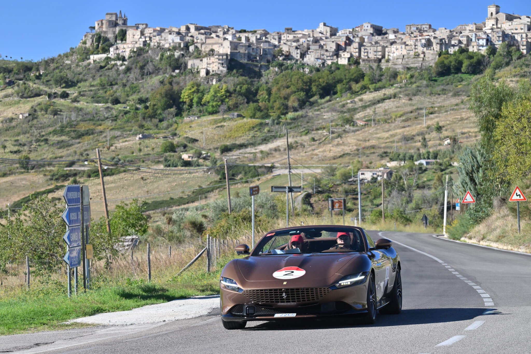
[[(62, 215), (66, 223), (66, 234), (63, 236), (63, 240), (68, 246), (63, 261), (67, 264), (68, 297), (70, 297), (72, 293), (70, 269), (75, 269), (75, 280), (77, 280), (77, 267), (81, 265), (81, 186), (79, 184), (66, 186), (63, 198), (66, 202), (66, 209)], [(75, 289), (77, 291), (77, 283)]]

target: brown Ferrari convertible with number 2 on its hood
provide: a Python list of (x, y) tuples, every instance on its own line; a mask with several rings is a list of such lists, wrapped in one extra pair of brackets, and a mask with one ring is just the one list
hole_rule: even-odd
[(391, 241), (374, 242), (360, 227), (317, 225), (268, 232), (248, 255), (230, 261), (220, 277), (221, 320), (226, 329), (247, 321), (357, 315), (402, 308), (400, 257)]

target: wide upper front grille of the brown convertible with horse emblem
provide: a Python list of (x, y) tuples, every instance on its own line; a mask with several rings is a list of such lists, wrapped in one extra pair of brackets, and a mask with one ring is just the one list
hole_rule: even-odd
[(329, 292), (330, 288), (252, 289), (243, 295), (259, 304), (290, 304), (319, 301)]

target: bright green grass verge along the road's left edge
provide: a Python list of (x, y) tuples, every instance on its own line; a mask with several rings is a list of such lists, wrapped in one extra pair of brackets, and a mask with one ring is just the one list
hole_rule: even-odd
[(66, 296), (66, 281), (40, 280), (29, 291), (2, 294), (0, 335), (79, 327), (80, 324), (63, 322), (196, 295), (218, 294), (221, 269), (230, 259), (218, 261), (214, 272), (189, 269), (179, 277), (149, 283), (145, 279), (110, 280), (104, 274), (93, 279), (92, 290), (71, 298)]

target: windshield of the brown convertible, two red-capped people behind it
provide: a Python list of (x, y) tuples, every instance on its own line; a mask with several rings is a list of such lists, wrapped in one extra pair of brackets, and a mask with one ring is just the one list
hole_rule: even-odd
[(329, 252), (365, 252), (361, 232), (344, 227), (306, 227), (270, 232), (256, 245), (252, 255)]

